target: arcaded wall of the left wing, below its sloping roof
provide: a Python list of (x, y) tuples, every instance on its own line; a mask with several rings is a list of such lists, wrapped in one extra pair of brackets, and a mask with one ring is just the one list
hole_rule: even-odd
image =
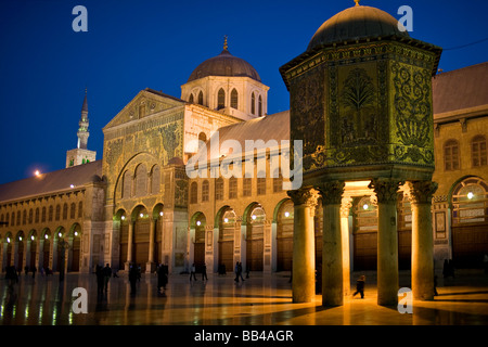
[[(104, 218), (104, 183), (97, 182), (1, 204), (0, 220), (9, 223), (0, 226), (2, 271), (7, 266), (23, 270), (25, 266), (33, 265), (38, 270), (48, 267), (59, 271), (61, 257), (57, 247), (61, 241), (65, 241), (65, 269), (89, 272), (98, 254), (91, 245), (93, 235), (98, 234), (95, 226)], [(76, 248), (75, 256), (73, 248)], [(43, 253), (48, 249), (49, 259), (44, 262)], [(48, 252), (46, 254), (48, 257)]]

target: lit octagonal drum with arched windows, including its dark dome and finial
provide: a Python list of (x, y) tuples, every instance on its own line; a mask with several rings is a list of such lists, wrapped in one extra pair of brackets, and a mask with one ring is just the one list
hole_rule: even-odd
[(200, 64), (181, 86), (181, 99), (248, 120), (267, 114), (268, 90), (249, 63), (229, 52), (226, 37), (222, 52)]

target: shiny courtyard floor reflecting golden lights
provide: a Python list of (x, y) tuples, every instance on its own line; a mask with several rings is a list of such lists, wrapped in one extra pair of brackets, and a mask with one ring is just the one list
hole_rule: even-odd
[[(356, 277), (351, 277), (356, 279)], [(9, 286), (0, 280), (2, 325), (411, 325), (487, 324), (488, 277), (445, 281), (434, 301), (414, 301), (413, 313), (376, 305), (374, 278), (365, 297), (345, 298), (344, 306), (323, 308), (321, 296), (311, 304), (293, 304), (286, 274), (255, 274), (236, 284), (233, 278), (213, 275), (190, 282), (174, 274), (164, 293), (155, 275), (144, 274), (130, 294), (127, 277), (111, 279), (108, 293), (97, 293), (94, 274), (69, 273), (64, 281), (50, 277), (20, 277)], [(75, 313), (76, 287), (88, 293), (88, 313)], [(351, 287), (354, 288), (354, 287)]]

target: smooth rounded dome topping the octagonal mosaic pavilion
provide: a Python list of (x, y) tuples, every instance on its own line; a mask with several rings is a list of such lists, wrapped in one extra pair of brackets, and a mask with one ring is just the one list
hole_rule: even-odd
[(410, 37), (398, 29), (398, 20), (370, 7), (356, 5), (325, 21), (313, 35), (307, 51), (317, 47), (376, 37)]

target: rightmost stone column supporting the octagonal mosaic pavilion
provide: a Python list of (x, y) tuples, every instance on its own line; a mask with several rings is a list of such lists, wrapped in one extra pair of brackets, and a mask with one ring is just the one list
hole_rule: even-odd
[(432, 196), (437, 183), (409, 182), (412, 206), (412, 294), (414, 299), (434, 299), (434, 240)]

